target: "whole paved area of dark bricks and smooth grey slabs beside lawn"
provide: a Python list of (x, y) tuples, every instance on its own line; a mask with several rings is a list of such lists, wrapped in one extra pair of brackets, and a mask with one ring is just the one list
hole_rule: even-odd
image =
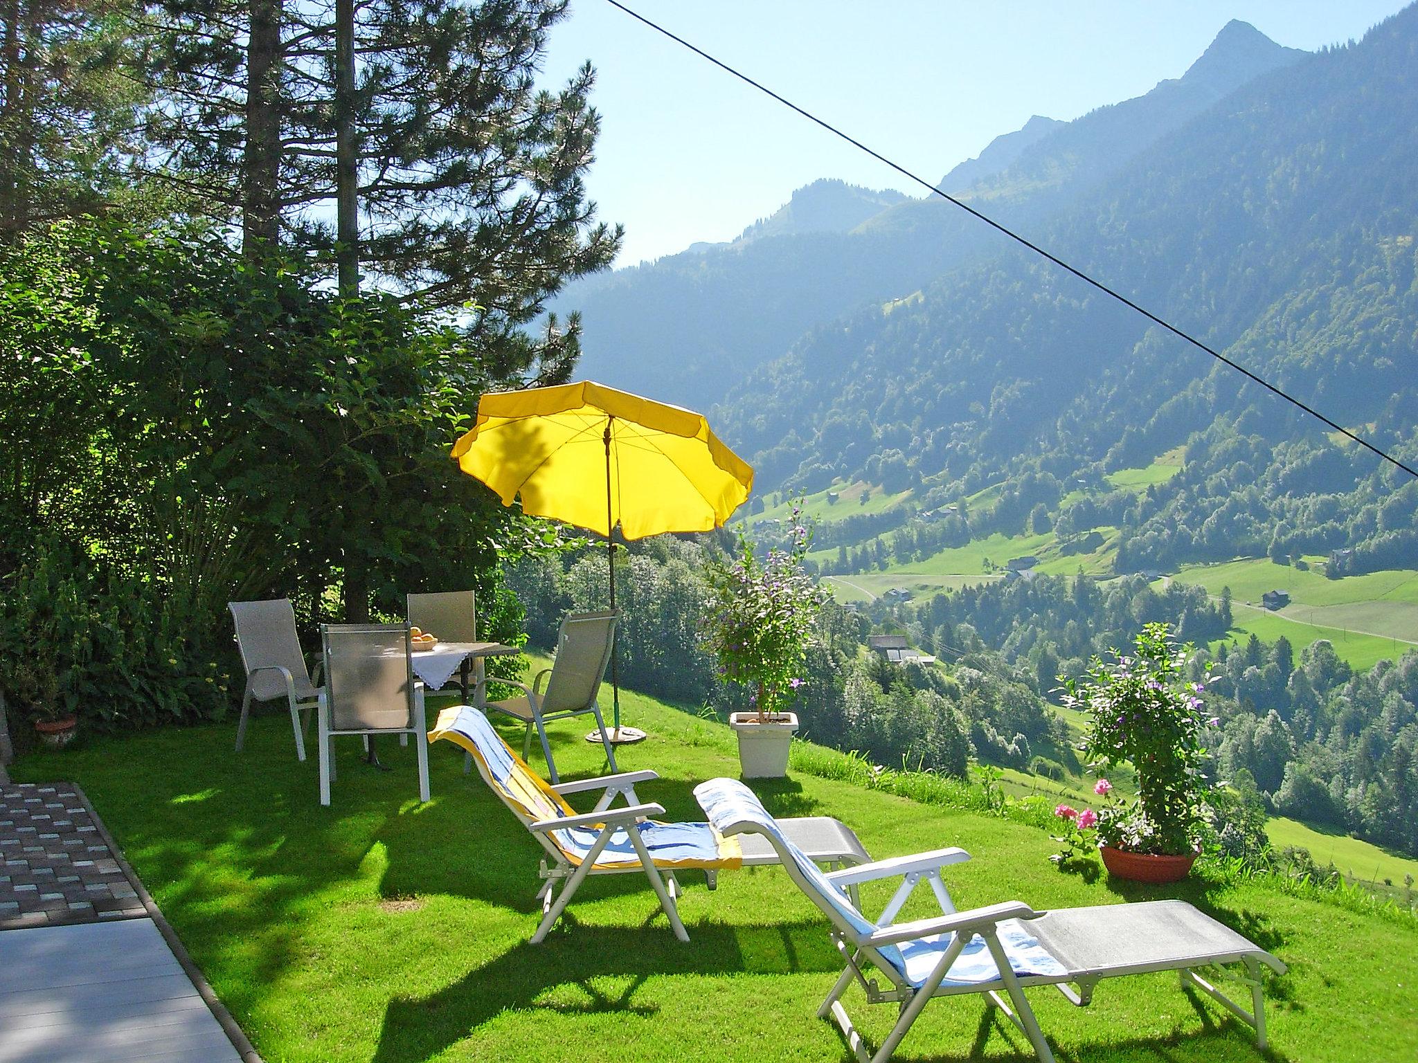
[(84, 791), (0, 782), (0, 1063), (261, 1063)]

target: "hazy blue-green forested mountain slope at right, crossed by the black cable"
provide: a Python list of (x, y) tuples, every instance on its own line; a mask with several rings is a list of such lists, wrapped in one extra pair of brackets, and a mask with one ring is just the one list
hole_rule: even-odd
[[(1412, 456), (1415, 60), (1418, 9), (1408, 9), (1358, 45), (1242, 86), (1035, 235)], [(917, 299), (820, 326), (732, 393), (718, 425), (766, 489), (881, 482), (895, 469), (944, 497), (1029, 471), (1051, 506), (1071, 479), (1146, 463), (1190, 439), (1183, 475), (1133, 514), (1133, 563), (1263, 550), (1279, 522), (1316, 539), (1319, 523), (1351, 522), (1366, 507), (1364, 527), (1330, 529), (1306, 549), (1384, 530), (1390, 480), (1374, 459), (1146, 326), (1007, 249)], [(1316, 496), (1334, 500), (1329, 512), (1302, 514)], [(1409, 499), (1388, 532), (1418, 537), (1411, 510)]]

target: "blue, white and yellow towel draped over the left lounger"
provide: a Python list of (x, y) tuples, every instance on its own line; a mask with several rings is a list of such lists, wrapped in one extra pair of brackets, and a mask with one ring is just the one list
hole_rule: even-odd
[[(430, 743), (440, 738), (447, 738), (472, 754), (482, 778), (523, 823), (577, 815), (560, 794), (510, 750), (479, 710), (467, 704), (444, 709), (438, 713), (438, 723), (428, 733)], [(581, 826), (552, 831), (547, 836), (567, 862), (579, 866), (604, 829), (600, 825)], [(635, 829), (640, 831), (641, 840), (657, 867), (732, 870), (743, 863), (739, 839), (725, 838), (709, 823), (648, 821), (637, 823)], [(597, 867), (610, 869), (635, 863), (640, 863), (640, 853), (631, 845), (625, 828), (617, 828), (605, 849), (596, 857)]]

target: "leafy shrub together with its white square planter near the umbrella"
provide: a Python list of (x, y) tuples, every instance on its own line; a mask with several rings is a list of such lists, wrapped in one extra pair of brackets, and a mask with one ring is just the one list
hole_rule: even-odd
[(813, 639), (813, 619), (825, 591), (805, 571), (803, 558), (811, 540), (793, 506), (791, 546), (771, 550), (764, 560), (747, 540), (729, 561), (709, 567), (708, 648), (719, 660), (719, 675), (749, 687), (754, 710), (732, 713), (739, 736), (739, 764), (744, 778), (787, 774), (788, 747), (797, 714), (788, 712), (803, 686), (803, 665)]

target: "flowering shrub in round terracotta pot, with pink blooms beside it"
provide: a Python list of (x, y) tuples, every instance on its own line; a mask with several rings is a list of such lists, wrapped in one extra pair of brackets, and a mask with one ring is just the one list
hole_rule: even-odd
[(1093, 658), (1082, 679), (1065, 683), (1064, 704), (1089, 714), (1083, 748), (1096, 767), (1133, 765), (1137, 797), (1123, 799), (1100, 778), (1093, 788), (1105, 798), (1100, 809), (1055, 812), (1069, 825), (1065, 859), (1092, 828), (1110, 874), (1177, 882), (1190, 873), (1207, 825), (1201, 736), (1217, 721), (1202, 706), (1204, 683), (1187, 682), (1190, 643), (1178, 646), (1166, 624), (1147, 624), (1134, 649), (1112, 663)]

